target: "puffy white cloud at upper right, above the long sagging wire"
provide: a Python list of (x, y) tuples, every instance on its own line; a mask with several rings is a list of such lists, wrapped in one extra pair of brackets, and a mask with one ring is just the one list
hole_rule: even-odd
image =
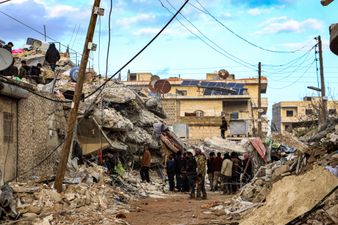
[(283, 16), (268, 19), (260, 27), (262, 29), (256, 34), (302, 33), (306, 29), (321, 30), (323, 22), (313, 18), (298, 21)]

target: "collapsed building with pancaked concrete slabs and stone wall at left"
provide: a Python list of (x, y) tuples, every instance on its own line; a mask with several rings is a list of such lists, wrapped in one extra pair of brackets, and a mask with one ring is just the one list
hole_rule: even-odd
[[(46, 48), (40, 41), (34, 43), (38, 44), (13, 54), (15, 65), (21, 60), (27, 60), (29, 66), (40, 62), (44, 82), (0, 76), (0, 184), (54, 175), (66, 134), (76, 86), (70, 71), (76, 66), (69, 54), (61, 53), (53, 79), (55, 74), (44, 63)], [(157, 155), (160, 160), (153, 135), (154, 124), (162, 124), (166, 118), (160, 102), (118, 81), (98, 88), (105, 80), (90, 68), (85, 76), (73, 147), (79, 146), (86, 159), (102, 164), (102, 157), (97, 161), (101, 153), (109, 151), (133, 161), (148, 144), (154, 159)]]

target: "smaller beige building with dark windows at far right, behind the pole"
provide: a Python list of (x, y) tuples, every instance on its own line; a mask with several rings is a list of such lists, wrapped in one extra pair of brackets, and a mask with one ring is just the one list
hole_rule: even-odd
[[(318, 97), (304, 97), (303, 101), (283, 101), (272, 106), (272, 131), (293, 132), (318, 124), (321, 100)], [(337, 114), (338, 101), (327, 102), (328, 115)]]

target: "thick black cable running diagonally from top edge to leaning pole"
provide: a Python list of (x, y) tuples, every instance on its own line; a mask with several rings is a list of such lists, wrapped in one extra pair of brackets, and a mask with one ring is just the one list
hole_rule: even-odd
[(112, 76), (110, 76), (103, 84), (101, 84), (98, 88), (96, 88), (93, 92), (84, 97), (84, 99), (89, 98), (94, 95), (97, 91), (99, 91), (102, 87), (104, 87), (110, 80), (112, 80), (119, 72), (121, 72), (125, 67), (127, 67), (134, 59), (136, 59), (144, 50), (146, 50), (161, 33), (169, 26), (169, 24), (176, 18), (176, 16), (182, 11), (182, 9), (188, 4), (189, 0), (186, 0), (180, 9), (175, 13), (175, 15), (162, 27), (162, 29), (139, 51), (137, 52), (127, 63), (125, 63), (119, 70), (117, 70)]

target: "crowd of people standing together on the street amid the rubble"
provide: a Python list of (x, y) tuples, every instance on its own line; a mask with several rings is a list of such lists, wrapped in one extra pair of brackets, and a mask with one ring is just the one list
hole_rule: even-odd
[(241, 183), (248, 183), (253, 177), (249, 155), (244, 154), (243, 158), (241, 160), (236, 152), (225, 153), (223, 157), (220, 152), (217, 155), (210, 152), (206, 158), (199, 148), (183, 154), (171, 154), (166, 162), (169, 190), (190, 191), (191, 198), (205, 199), (205, 179), (208, 175), (210, 191), (233, 194), (240, 188)]

